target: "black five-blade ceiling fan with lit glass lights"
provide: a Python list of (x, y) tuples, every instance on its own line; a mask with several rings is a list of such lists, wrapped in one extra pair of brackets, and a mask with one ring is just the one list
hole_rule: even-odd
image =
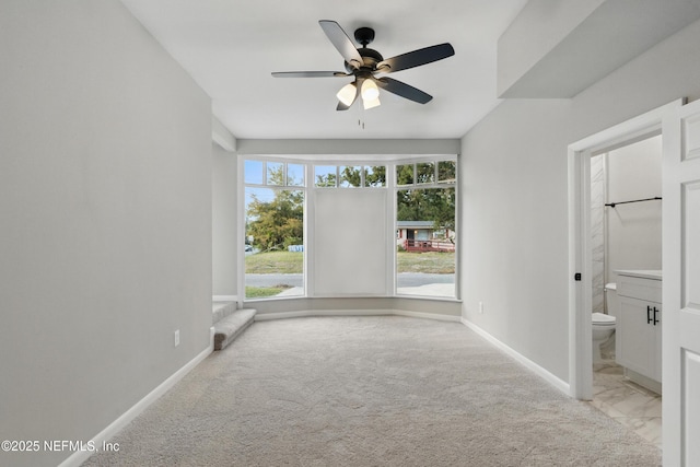
[(354, 80), (346, 84), (336, 94), (338, 97), (337, 110), (347, 110), (358, 100), (362, 97), (365, 109), (378, 106), (380, 87), (393, 94), (405, 97), (419, 104), (425, 104), (433, 97), (423, 91), (416, 89), (401, 81), (392, 78), (376, 78), (375, 73), (394, 73), (407, 70), (421, 65), (432, 63), (443, 58), (455, 55), (454, 48), (447, 43), (431, 47), (421, 48), (384, 59), (382, 55), (368, 48), (374, 40), (374, 30), (371, 27), (360, 27), (354, 32), (355, 40), (362, 46), (355, 48), (346, 32), (335, 21), (322, 20), (318, 22), (336, 49), (346, 60), (346, 71), (281, 71), (273, 72), (275, 78), (346, 78), (353, 77)]

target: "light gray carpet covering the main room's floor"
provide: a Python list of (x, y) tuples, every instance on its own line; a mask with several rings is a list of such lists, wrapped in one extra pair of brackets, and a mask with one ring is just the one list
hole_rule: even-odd
[(657, 466), (656, 447), (457, 323), (258, 322), (88, 466)]

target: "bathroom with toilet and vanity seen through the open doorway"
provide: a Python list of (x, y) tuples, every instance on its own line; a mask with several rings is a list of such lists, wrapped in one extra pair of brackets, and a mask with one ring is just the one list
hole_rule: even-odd
[[(655, 280), (650, 283), (657, 284), (661, 294), (661, 156), (662, 136), (658, 135), (591, 159), (593, 405), (660, 446), (661, 383), (621, 364), (625, 359), (620, 358), (620, 337), (626, 332), (629, 342), (630, 334), (637, 338), (638, 330), (632, 328), (629, 318), (620, 317), (625, 306), (620, 300), (633, 303), (635, 299), (618, 296), (618, 291), (621, 281), (651, 278)], [(617, 272), (621, 270), (626, 272)], [(645, 279), (638, 278), (638, 272)], [(626, 308), (627, 316), (629, 310)], [(641, 319), (645, 320), (643, 312)], [(656, 323), (651, 324), (656, 326)], [(661, 326), (654, 330), (661, 335)], [(640, 347), (635, 346), (634, 352), (639, 352)]]

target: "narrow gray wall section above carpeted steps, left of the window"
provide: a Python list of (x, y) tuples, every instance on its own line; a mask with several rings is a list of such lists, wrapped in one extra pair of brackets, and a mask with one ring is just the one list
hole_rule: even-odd
[(237, 257), (243, 250), (238, 240), (238, 161), (235, 152), (212, 144), (212, 267), (213, 295), (237, 295)]

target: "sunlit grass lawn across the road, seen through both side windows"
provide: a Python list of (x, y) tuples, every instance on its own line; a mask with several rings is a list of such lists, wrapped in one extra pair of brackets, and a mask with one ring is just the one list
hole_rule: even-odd
[[(399, 272), (424, 272), (446, 275), (455, 272), (454, 253), (406, 253), (396, 254)], [(304, 254), (298, 252), (257, 253), (245, 257), (245, 271), (249, 275), (302, 273)], [(279, 293), (279, 292), (278, 292)], [(246, 291), (246, 296), (248, 295)]]

